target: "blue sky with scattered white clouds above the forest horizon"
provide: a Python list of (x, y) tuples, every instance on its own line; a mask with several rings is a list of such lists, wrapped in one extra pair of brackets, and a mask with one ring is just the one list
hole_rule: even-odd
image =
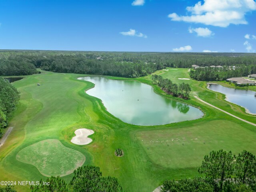
[(256, 52), (254, 0), (1, 0), (0, 49)]

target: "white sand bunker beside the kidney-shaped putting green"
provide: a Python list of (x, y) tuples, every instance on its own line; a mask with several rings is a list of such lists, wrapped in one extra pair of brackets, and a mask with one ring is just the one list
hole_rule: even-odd
[(92, 142), (91, 138), (88, 138), (89, 135), (94, 134), (93, 130), (90, 129), (78, 129), (75, 131), (76, 136), (71, 140), (72, 143), (77, 145), (87, 145)]

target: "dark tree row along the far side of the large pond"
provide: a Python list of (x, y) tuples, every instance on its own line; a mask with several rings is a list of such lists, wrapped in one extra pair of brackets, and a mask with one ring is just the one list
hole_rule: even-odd
[(56, 56), (52, 62), (44, 61), (40, 68), (46, 71), (78, 74), (98, 74), (137, 78), (146, 76), (162, 69), (154, 63), (142, 62), (114, 62), (113, 60), (97, 60), (91, 58), (70, 58), (70, 56)]

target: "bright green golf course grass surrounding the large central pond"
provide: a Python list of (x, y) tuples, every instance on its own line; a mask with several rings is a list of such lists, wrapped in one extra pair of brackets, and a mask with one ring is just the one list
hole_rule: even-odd
[[(206, 82), (178, 80), (189, 78), (188, 69), (160, 70), (156, 74), (162, 74), (173, 82), (189, 83), (192, 87), (191, 99), (182, 100), (167, 95), (151, 83), (150, 76), (136, 80), (150, 84), (157, 94), (200, 108), (204, 111), (204, 117), (162, 126), (135, 126), (120, 121), (105, 110), (98, 98), (87, 95), (84, 90), (93, 84), (76, 79), (84, 75), (42, 72), (14, 82), (21, 93), (21, 99), (10, 121), (14, 129), (6, 144), (0, 148), (0, 180), (46, 179), (36, 166), (20, 162), (16, 156), (48, 139), (59, 140), (66, 148), (82, 153), (86, 157), (84, 165), (99, 166), (104, 176), (115, 176), (126, 192), (152, 192), (165, 179), (195, 176), (198, 174), (196, 167), (211, 150), (224, 148), (238, 153), (246, 149), (255, 153), (254, 126), (207, 106), (193, 96), (199, 96), (206, 102), (252, 122), (256, 121), (255, 116), (245, 114), (240, 106), (225, 101), (224, 95), (208, 90)], [(37, 86), (37, 83), (43, 85)], [(78, 146), (70, 142), (78, 128), (94, 130), (90, 144)], [(159, 143), (157, 146), (142, 142), (144, 139), (167, 140), (174, 135), (180, 141), (182, 137), (198, 140), (186, 140), (184, 145), (175, 142), (173, 148), (171, 144), (164, 146)], [(199, 143), (203, 140), (206, 140), (206, 144)], [(122, 158), (115, 156), (117, 148), (124, 151)], [(195, 149), (194, 152), (191, 149)], [(47, 149), (53, 150), (53, 146)], [(36, 159), (33, 151), (31, 148), (32, 153), (28, 154), (30, 158)], [(178, 154), (178, 158), (173, 153)], [(66, 160), (77, 159), (75, 156), (67, 156)], [(184, 162), (179, 162), (181, 160)], [(49, 164), (49, 167), (53, 166), (54, 163)], [(66, 166), (64, 169), (70, 170), (70, 166)], [(69, 174), (63, 178), (69, 182), (72, 176)], [(19, 192), (29, 191), (29, 186), (16, 188)]]

